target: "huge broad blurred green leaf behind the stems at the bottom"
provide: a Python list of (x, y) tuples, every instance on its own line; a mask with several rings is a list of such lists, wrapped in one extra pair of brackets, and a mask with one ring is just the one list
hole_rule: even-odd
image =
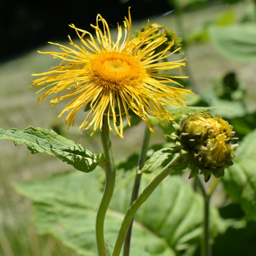
[[(118, 173), (118, 172), (117, 172)], [(35, 225), (63, 244), (86, 256), (96, 256), (95, 218), (101, 197), (98, 181), (102, 172), (63, 173), (37, 181), (16, 184), (17, 190), (34, 202)], [(127, 211), (135, 172), (118, 173), (117, 185), (107, 212), (105, 237), (113, 247), (123, 214)], [(145, 175), (144, 187), (152, 177)], [(135, 217), (131, 255), (174, 256), (190, 244), (199, 244), (203, 201), (178, 177), (167, 177), (143, 204)], [(212, 227), (217, 214), (212, 209)], [(212, 228), (213, 234), (215, 229)]]

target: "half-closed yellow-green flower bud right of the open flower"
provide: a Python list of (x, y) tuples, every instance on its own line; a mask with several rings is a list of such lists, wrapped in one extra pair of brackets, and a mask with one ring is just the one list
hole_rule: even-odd
[(196, 112), (185, 115), (174, 127), (176, 135), (166, 137), (178, 141), (186, 158), (191, 160), (188, 165), (192, 169), (190, 178), (201, 170), (208, 181), (211, 173), (216, 177), (223, 176), (224, 169), (233, 164), (238, 143), (231, 143), (236, 139), (233, 138), (233, 126), (221, 116)]

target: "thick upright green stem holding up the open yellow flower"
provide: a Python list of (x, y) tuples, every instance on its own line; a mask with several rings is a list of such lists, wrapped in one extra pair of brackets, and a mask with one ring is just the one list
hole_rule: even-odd
[(97, 217), (96, 217), (96, 242), (98, 247), (99, 256), (106, 256), (106, 247), (104, 240), (104, 220), (107, 208), (111, 197), (114, 192), (115, 186), (115, 158), (112, 149), (112, 143), (110, 140), (109, 134), (109, 125), (107, 123), (107, 116), (103, 117), (102, 132), (101, 132), (101, 142), (105, 157), (105, 187), (101, 202), (98, 208)]

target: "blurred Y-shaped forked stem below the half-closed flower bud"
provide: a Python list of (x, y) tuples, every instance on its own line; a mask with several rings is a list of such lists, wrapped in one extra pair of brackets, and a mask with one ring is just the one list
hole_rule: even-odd
[(203, 239), (202, 239), (202, 250), (201, 255), (202, 256), (211, 256), (211, 246), (209, 243), (210, 240), (210, 199), (213, 194), (213, 191), (215, 190), (217, 184), (219, 183), (219, 179), (215, 179), (213, 183), (209, 186), (209, 188), (206, 190), (203, 183), (201, 182), (200, 178), (196, 176), (196, 181), (199, 184), (199, 188), (203, 194), (204, 197), (204, 222), (203, 222)]

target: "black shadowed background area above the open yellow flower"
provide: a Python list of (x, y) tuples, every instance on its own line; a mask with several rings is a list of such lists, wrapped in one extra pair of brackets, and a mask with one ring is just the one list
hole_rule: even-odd
[(0, 62), (16, 58), (48, 41), (67, 40), (68, 25), (89, 30), (100, 13), (114, 27), (131, 6), (132, 20), (172, 10), (168, 0), (12, 1), (0, 0)]

